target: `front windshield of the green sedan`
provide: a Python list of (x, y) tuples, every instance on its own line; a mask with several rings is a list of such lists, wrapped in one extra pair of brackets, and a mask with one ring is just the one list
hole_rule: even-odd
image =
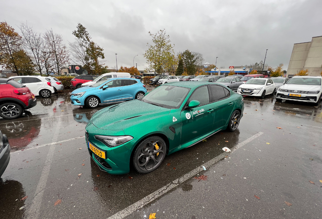
[(151, 91), (142, 101), (164, 108), (179, 108), (189, 91), (190, 88), (162, 85)]

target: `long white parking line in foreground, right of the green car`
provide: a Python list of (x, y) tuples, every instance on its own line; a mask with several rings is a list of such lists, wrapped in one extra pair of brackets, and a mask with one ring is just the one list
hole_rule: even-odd
[[(235, 147), (233, 147), (231, 149), (231, 152), (236, 151), (239, 148), (242, 148), (245, 144), (249, 143), (250, 141), (254, 140), (255, 138), (259, 137), (262, 134), (263, 134), (263, 132), (258, 132), (257, 134), (253, 135), (252, 137), (246, 139), (245, 141), (238, 143)], [(218, 161), (220, 161), (221, 159), (223, 159), (227, 154), (229, 154), (229, 153), (224, 152), (224, 153), (220, 154), (219, 156), (213, 158), (212, 160), (208, 161), (207, 163), (203, 164), (203, 166), (205, 166), (206, 168), (209, 168), (211, 165), (213, 165), (213, 164), (217, 163)], [(169, 192), (170, 190), (172, 190), (173, 188), (179, 186), (185, 180), (191, 178), (192, 176), (194, 176), (195, 174), (197, 174), (199, 172), (202, 172), (203, 170), (204, 170), (204, 168), (202, 166), (199, 166), (199, 167), (191, 170), (187, 174), (173, 180), (168, 185), (156, 190), (155, 192), (144, 197), (140, 201), (137, 201), (136, 203), (130, 205), (129, 207), (118, 211), (117, 213), (113, 214), (112, 216), (108, 217), (107, 219), (122, 219), (122, 218), (130, 215), (134, 211), (137, 211), (138, 209), (147, 205), (151, 201), (154, 201), (155, 199), (159, 198), (163, 194), (165, 194), (165, 193)]]

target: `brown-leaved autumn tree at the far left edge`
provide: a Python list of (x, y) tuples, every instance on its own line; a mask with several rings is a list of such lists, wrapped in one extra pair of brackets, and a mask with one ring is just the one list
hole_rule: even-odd
[(0, 61), (19, 75), (17, 53), (21, 50), (21, 36), (7, 22), (0, 22)]

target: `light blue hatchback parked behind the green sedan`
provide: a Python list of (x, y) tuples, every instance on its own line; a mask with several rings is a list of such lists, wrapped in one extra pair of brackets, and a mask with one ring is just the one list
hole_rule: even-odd
[(95, 108), (100, 103), (140, 99), (145, 93), (145, 85), (138, 79), (113, 78), (74, 90), (70, 100), (73, 105)]

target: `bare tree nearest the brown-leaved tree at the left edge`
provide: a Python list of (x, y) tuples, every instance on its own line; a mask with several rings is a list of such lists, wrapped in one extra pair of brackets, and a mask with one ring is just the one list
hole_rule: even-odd
[(35, 33), (32, 28), (27, 24), (21, 24), (20, 30), (23, 36), (23, 47), (28, 52), (28, 55), (32, 57), (32, 62), (37, 66), (37, 70), (42, 75), (42, 70), (44, 68), (43, 63), (43, 50), (44, 50), (44, 39), (42, 34)]

